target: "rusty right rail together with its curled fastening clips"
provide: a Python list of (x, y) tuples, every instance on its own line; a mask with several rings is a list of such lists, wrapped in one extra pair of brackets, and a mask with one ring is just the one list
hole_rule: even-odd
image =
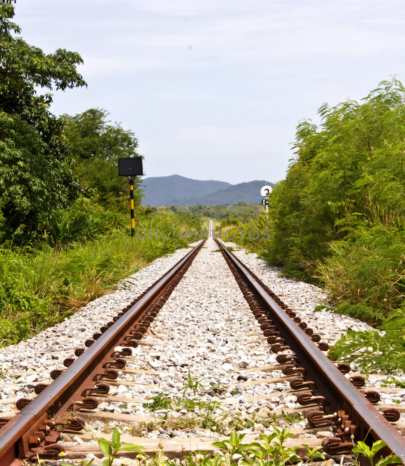
[[(385, 413), (387, 417), (381, 414), (369, 399), (358, 391), (354, 382), (351, 383), (344, 377), (347, 370), (343, 370), (344, 373), (342, 373), (317, 347), (314, 342), (318, 342), (319, 339), (311, 340), (309, 335), (312, 334), (304, 332), (304, 329), (307, 329), (306, 324), (302, 325), (304, 328), (301, 328), (299, 326), (302, 323), (301, 319), (297, 318), (296, 314), (291, 312), (284, 303), (280, 305), (280, 299), (273, 299), (271, 295), (274, 297), (274, 293), (271, 293), (269, 288), (248, 267), (228, 251), (222, 242), (218, 240), (216, 242), (222, 248), (223, 256), (234, 273), (236, 281), (244, 292), (243, 294), (245, 297), (248, 296), (246, 299), (254, 313), (256, 304), (256, 318), (259, 316), (259, 323), (260, 317), (262, 317), (261, 328), (269, 329), (272, 325), (276, 327), (276, 332), (267, 332), (270, 335), (278, 334), (273, 340), (275, 342), (271, 347), (273, 351), (278, 352), (280, 349), (294, 351), (295, 358), (288, 355), (277, 355), (277, 360), (280, 363), (288, 363), (284, 366), (287, 373), (300, 376), (296, 380), (295, 387), (293, 383), (291, 388), (311, 389), (310, 393), (299, 392), (298, 402), (303, 405), (319, 404), (321, 406), (317, 411), (309, 413), (308, 421), (313, 425), (325, 423), (337, 425), (337, 437), (325, 439), (324, 449), (330, 454), (336, 454), (337, 452), (350, 451), (352, 439), (364, 441), (367, 438), (366, 441), (369, 442), (371, 439), (373, 441), (383, 440), (388, 444), (383, 452), (386, 455), (396, 454), (405, 464), (405, 439), (387, 420), (389, 414)], [(245, 286), (249, 288), (249, 292), (246, 291)], [(328, 345), (325, 348), (325, 343), (321, 344), (320, 347), (324, 350), (329, 349)], [(302, 368), (296, 367), (298, 362), (300, 366), (303, 366)], [(344, 367), (344, 364), (341, 366)], [(308, 380), (304, 380), (305, 378)], [(373, 399), (375, 394), (376, 392), (370, 392), (370, 398)]]

